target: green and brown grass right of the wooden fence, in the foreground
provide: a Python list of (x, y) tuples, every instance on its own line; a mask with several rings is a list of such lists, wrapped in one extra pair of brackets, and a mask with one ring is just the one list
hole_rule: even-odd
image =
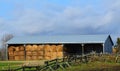
[[(119, 66), (119, 63), (109, 63), (109, 62), (89, 62), (87, 64), (79, 64), (67, 68), (66, 71), (115, 71), (114, 68)], [(120, 68), (119, 68), (120, 69)], [(58, 71), (63, 71), (59, 69)]]

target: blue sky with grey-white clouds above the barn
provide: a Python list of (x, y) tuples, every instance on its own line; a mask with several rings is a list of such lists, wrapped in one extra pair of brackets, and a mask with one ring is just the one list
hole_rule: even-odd
[(120, 36), (120, 0), (0, 0), (5, 34)]

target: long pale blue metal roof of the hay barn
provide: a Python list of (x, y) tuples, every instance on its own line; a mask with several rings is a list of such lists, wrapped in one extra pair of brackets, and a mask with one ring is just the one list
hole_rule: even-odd
[(62, 35), (13, 37), (7, 44), (105, 43), (109, 35)]

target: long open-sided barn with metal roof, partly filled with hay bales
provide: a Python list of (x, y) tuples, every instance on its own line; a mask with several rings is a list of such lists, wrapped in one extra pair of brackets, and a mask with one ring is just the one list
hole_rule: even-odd
[(70, 54), (112, 53), (110, 35), (21, 36), (7, 42), (8, 60), (51, 60)]

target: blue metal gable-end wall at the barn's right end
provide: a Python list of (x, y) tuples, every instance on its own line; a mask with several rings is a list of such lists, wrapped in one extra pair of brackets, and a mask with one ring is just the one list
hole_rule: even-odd
[(110, 37), (108, 37), (104, 44), (105, 52), (112, 53), (112, 46), (113, 46), (113, 43), (111, 42)]

